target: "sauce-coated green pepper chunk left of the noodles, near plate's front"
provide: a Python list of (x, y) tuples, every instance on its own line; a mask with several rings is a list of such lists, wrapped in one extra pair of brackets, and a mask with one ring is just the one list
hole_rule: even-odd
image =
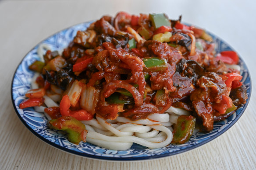
[(81, 140), (86, 142), (87, 130), (85, 125), (71, 116), (62, 116), (48, 122), (49, 128), (67, 132), (68, 140), (78, 144)]

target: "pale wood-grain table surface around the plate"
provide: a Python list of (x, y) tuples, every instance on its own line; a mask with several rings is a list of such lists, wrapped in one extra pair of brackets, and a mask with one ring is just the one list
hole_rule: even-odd
[(248, 108), (228, 132), (189, 152), (141, 162), (91, 160), (47, 145), (21, 123), (10, 93), (14, 70), (37, 43), (63, 28), (120, 10), (165, 12), (171, 18), (183, 14), (183, 21), (212, 31), (235, 48), (256, 84), (255, 8), (250, 0), (0, 1), (0, 169), (255, 169), (255, 86)]

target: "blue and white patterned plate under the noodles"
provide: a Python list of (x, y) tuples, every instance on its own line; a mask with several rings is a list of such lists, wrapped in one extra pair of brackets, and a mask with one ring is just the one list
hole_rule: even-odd
[[(12, 81), (11, 96), (14, 109), (21, 119), (23, 124), (39, 139), (54, 146), (58, 149), (64, 150), (68, 153), (84, 156), (92, 159), (100, 160), (116, 160), (116, 161), (134, 161), (134, 160), (149, 160), (166, 156), (183, 153), (185, 151), (202, 146), (203, 144), (210, 142), (217, 138), (222, 133), (226, 132), (238, 119), (242, 116), (245, 108), (248, 105), (251, 95), (251, 79), (249, 71), (243, 60), (240, 58), (239, 65), (241, 66), (241, 74), (243, 76), (242, 82), (247, 89), (247, 103), (239, 107), (234, 114), (229, 118), (214, 123), (213, 131), (209, 133), (197, 132), (192, 135), (188, 142), (182, 145), (170, 144), (159, 149), (148, 149), (138, 144), (133, 144), (131, 149), (118, 151), (105, 149), (99, 146), (92, 145), (90, 143), (82, 143), (75, 145), (68, 141), (68, 139), (60, 131), (49, 129), (46, 125), (47, 118), (44, 114), (36, 112), (33, 108), (20, 109), (19, 104), (25, 98), (25, 93), (31, 88), (30, 83), (34, 72), (28, 69), (28, 66), (35, 60), (39, 59), (37, 55), (37, 49), (40, 44), (46, 44), (50, 46), (51, 50), (61, 50), (67, 47), (76, 35), (78, 30), (85, 30), (92, 22), (85, 22), (77, 24), (70, 28), (64, 29), (49, 38), (46, 38), (43, 42), (40, 42), (34, 47), (28, 54), (22, 59), (19, 64)], [(212, 35), (212, 34), (210, 34)], [(212, 35), (214, 41), (217, 43), (216, 51), (233, 50), (227, 43), (220, 38)]]

